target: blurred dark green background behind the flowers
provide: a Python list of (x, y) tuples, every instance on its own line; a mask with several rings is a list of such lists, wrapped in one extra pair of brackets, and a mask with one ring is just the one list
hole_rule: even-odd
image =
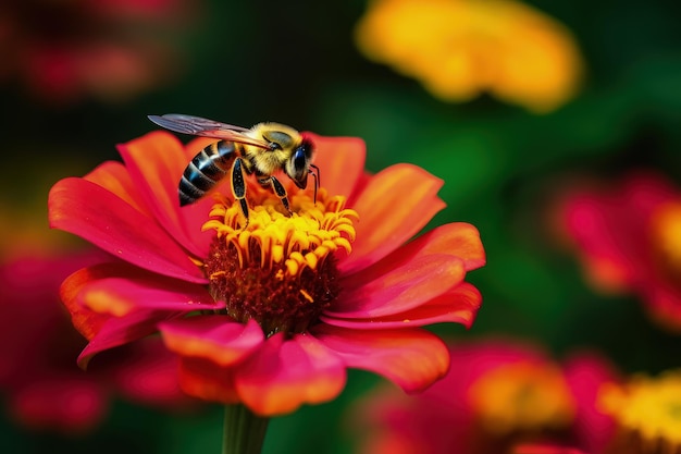
[[(679, 338), (653, 326), (633, 296), (594, 293), (548, 231), (547, 216), (550, 196), (570, 175), (646, 167), (681, 181), (681, 3), (529, 1), (572, 32), (585, 61), (579, 94), (546, 114), (485, 95), (443, 102), (418, 81), (367, 60), (352, 38), (367, 9), (359, 0), (170, 1), (172, 14), (119, 20), (103, 32), (123, 34), (133, 49), (151, 34), (162, 50), (148, 63), (162, 74), (121, 94), (97, 88), (52, 97), (30, 83), (40, 66), (10, 63), (30, 51), (23, 42), (46, 33), (45, 24), (53, 33), (83, 27), (74, 39), (87, 39), (97, 22), (88, 24), (90, 16), (78, 10), (87, 2), (72, 1), (73, 8), (51, 15), (42, 3), (53, 9), (59, 2), (10, 0), (0, 8), (0, 19), (22, 30), (16, 40), (0, 42), (0, 64), (7, 63), (0, 70), (0, 232), (10, 235), (2, 245), (12, 243), (12, 231), (47, 229), (51, 184), (119, 159), (115, 144), (154, 128), (147, 114), (189, 113), (245, 126), (278, 121), (362, 137), (370, 171), (412, 162), (445, 181), (439, 194), (447, 208), (431, 226), (474, 224), (488, 262), (468, 278), (483, 294), (473, 328), (434, 327), (438, 333), (512, 334), (556, 355), (593, 347), (628, 372), (679, 366)], [(344, 412), (379, 381), (351, 371), (335, 402), (275, 418), (264, 452), (352, 452)], [(106, 424), (83, 438), (30, 432), (3, 414), (0, 446), (21, 453), (216, 453), (221, 432), (219, 406), (182, 416), (119, 402)]]

